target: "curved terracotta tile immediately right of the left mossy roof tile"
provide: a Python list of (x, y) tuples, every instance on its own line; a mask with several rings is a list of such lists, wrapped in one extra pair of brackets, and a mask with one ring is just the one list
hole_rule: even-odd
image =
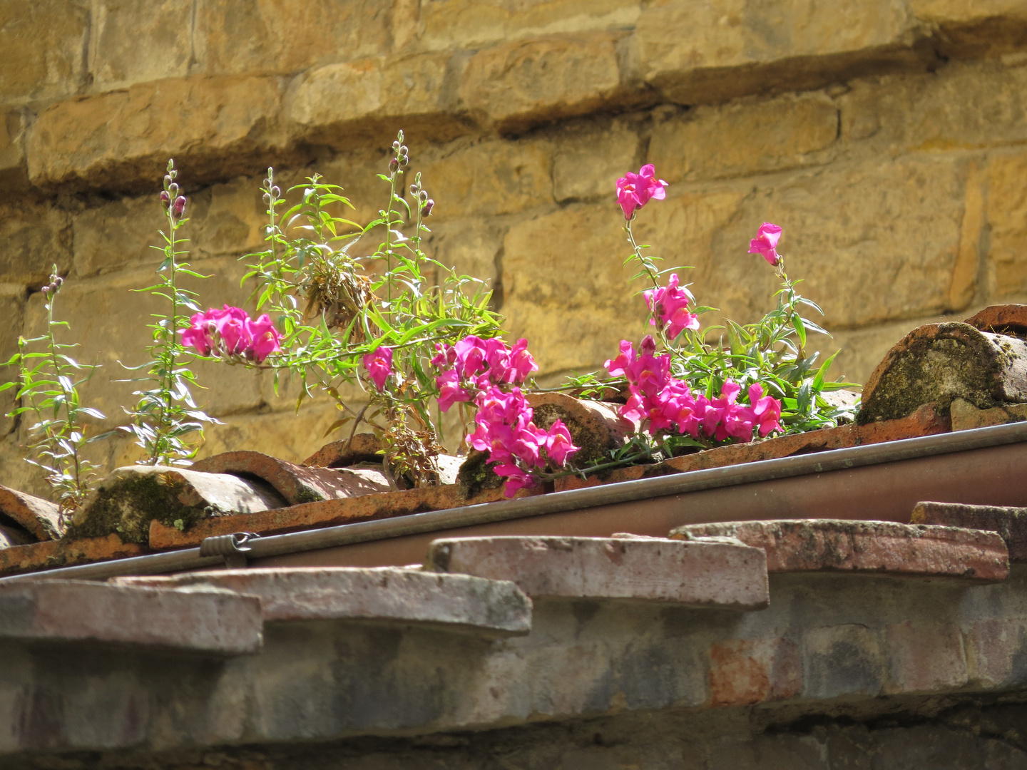
[(194, 463), (189, 469), (260, 478), (274, 487), (290, 505), (389, 491), (388, 478), (381, 470), (307, 467), (260, 452), (223, 452)]

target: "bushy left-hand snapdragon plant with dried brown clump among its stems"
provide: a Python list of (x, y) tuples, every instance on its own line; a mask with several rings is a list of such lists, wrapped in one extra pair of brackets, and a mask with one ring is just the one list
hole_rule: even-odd
[[(276, 387), (279, 376), (297, 376), (299, 401), (314, 390), (327, 392), (341, 412), (329, 430), (345, 427), (352, 438), (357, 427), (370, 425), (381, 436), (385, 466), (401, 487), (438, 478), (444, 436), (435, 397), (441, 396), (443, 412), (454, 399), (473, 397), (457, 382), (464, 369), (443, 377), (432, 365), (438, 348), (480, 346), (489, 367), (500, 365), (500, 347), (505, 348), (493, 339), (500, 332), (499, 316), (489, 307), (492, 293), (485, 282), (425, 254), (426, 219), (435, 203), (419, 172), (408, 192), (409, 163), (400, 131), (378, 175), (388, 187), (387, 201), (366, 225), (342, 216), (353, 206), (341, 187), (314, 175), (283, 195), (269, 168), (262, 188), (267, 247), (245, 258), (245, 278), (258, 286), (257, 309), (267, 312), (256, 321), (203, 317), (190, 337), (232, 362), (270, 370)], [(291, 193), (299, 196), (292, 205), (286, 201)], [(377, 247), (362, 252), (372, 238)], [(264, 319), (272, 325), (250, 345), (246, 323), (256, 328)], [(241, 326), (236, 330), (235, 323)], [(461, 360), (477, 360), (477, 353), (462, 355)], [(510, 365), (523, 371), (523, 351), (515, 346), (507, 355), (518, 361)], [(468, 416), (461, 415), (466, 423)]]

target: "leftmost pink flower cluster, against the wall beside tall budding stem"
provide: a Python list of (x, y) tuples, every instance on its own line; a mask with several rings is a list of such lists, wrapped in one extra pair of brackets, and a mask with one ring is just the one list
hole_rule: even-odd
[(255, 320), (242, 308), (225, 305), (224, 310), (211, 308), (189, 320), (188, 329), (179, 330), (182, 344), (200, 355), (241, 355), (262, 363), (271, 353), (281, 352), (281, 335), (267, 313)]

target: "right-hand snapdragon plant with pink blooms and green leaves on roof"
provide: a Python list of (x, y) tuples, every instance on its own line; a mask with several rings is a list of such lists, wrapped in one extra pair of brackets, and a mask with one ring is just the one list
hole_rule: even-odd
[[(702, 329), (699, 316), (714, 308), (697, 305), (682, 283), (679, 276), (691, 268), (660, 270), (658, 260), (647, 254), (649, 246), (635, 238), (640, 210), (651, 201), (665, 201), (667, 187), (652, 165), (625, 174), (616, 184), (631, 245), (627, 262), (637, 268), (632, 280), (649, 284), (641, 294), (653, 334), (638, 348), (622, 340), (619, 354), (606, 361), (606, 378), (587, 374), (568, 383), (584, 395), (609, 397), (611, 387), (619, 391), (620, 415), (638, 427), (635, 437), (605, 464), (659, 459), (851, 419), (853, 409), (824, 397), (850, 383), (828, 381), (834, 355), (813, 365), (819, 353), (807, 350), (807, 333), (827, 332), (799, 313), (801, 306), (820, 308), (798, 294), (798, 281), (785, 272), (777, 252), (782, 228), (765, 222), (749, 244), (749, 253), (762, 256), (782, 281), (776, 307), (755, 323), (725, 318), (724, 326)], [(718, 330), (726, 340), (723, 334), (714, 337)]]

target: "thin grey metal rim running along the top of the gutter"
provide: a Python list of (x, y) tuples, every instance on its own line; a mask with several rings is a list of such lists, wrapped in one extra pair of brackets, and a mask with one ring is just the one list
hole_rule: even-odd
[[(338, 545), (384, 540), (406, 535), (445, 531), (511, 518), (588, 508), (598, 505), (645, 500), (718, 487), (731, 487), (775, 478), (844, 470), (866, 465), (901, 462), (933, 455), (967, 452), (1027, 440), (1027, 422), (993, 425), (951, 433), (941, 433), (863, 447), (830, 450), (774, 460), (760, 460), (721, 468), (639, 478), (600, 487), (554, 492), (548, 495), (466, 505), (460, 508), (412, 513), (394, 518), (344, 524), (316, 530), (271, 535), (251, 540), (252, 559), (330, 548)], [(104, 580), (120, 575), (155, 575), (195, 570), (223, 564), (221, 556), (200, 556), (199, 548), (167, 553), (150, 553), (99, 564), (64, 567), (44, 572), (0, 578), (0, 585), (27, 580)]]

